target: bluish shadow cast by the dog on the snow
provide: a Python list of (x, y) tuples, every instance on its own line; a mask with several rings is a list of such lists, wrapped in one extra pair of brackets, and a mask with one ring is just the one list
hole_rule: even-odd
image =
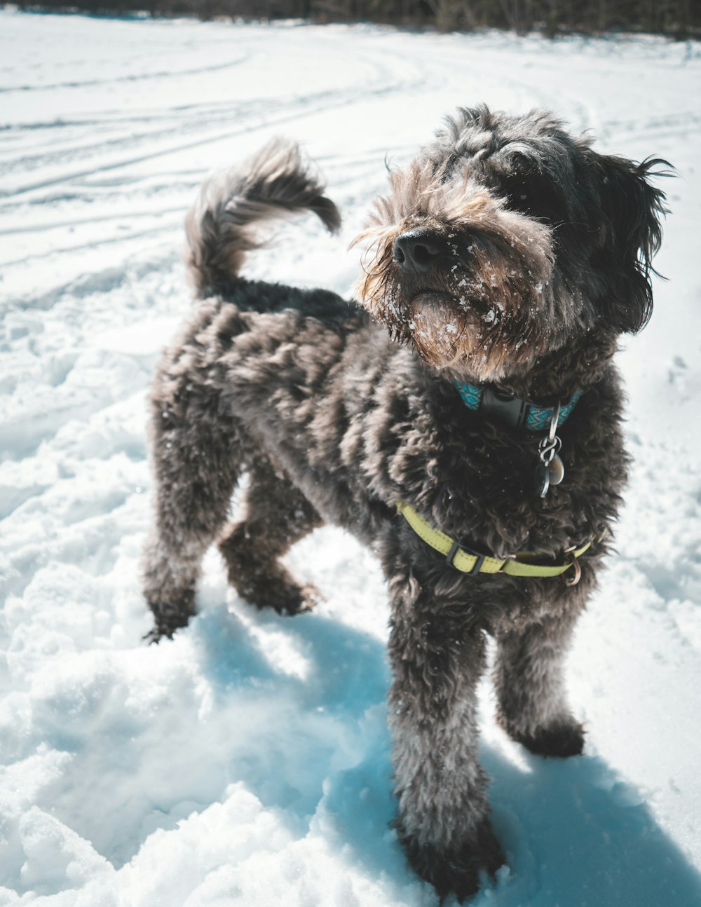
[[(297, 814), (302, 818), (304, 809), (310, 813), (316, 809), (312, 830), (321, 831), (346, 853), (350, 845), (354, 856), (349, 859), (360, 864), (358, 868), (383, 873), (405, 886), (411, 875), (389, 830), (394, 798), (384, 705), (389, 685), (385, 647), (320, 614), (293, 620), (248, 610), (248, 633), (242, 635), (239, 621), (229, 623), (222, 611), (210, 612), (209, 617), (200, 614), (196, 631), (203, 649), (202, 669), (211, 681), (230, 694), (235, 678), (244, 683), (256, 678), (270, 683), (269, 693), (275, 696), (277, 678), (281, 688), (290, 684), (296, 688), (303, 723), (305, 714), (319, 711), (340, 719), (342, 727), (336, 731), (346, 736), (340, 759), (328, 750), (323, 756), (305, 752), (304, 727), (297, 742), (277, 755), (300, 767), (311, 759), (321, 773), (314, 787), (315, 795), (322, 788), (323, 794), (316, 804), (313, 797), (302, 797), (303, 808)], [(265, 650), (267, 633), (282, 634), (301, 646), (306, 677), (289, 678), (271, 664)], [(505, 742), (509, 746), (513, 745)], [(701, 903), (701, 876), (657, 824), (636, 789), (602, 759), (585, 755), (560, 761), (521, 750), (525, 757), (521, 768), (493, 746), (482, 746), (481, 751), (482, 764), (492, 777), (493, 821), (509, 869), (501, 871), (495, 886), (485, 886), (472, 902), (474, 907), (494, 904), (495, 898), (500, 907)], [(281, 769), (267, 766), (268, 771)], [(265, 790), (257, 789), (268, 785), (259, 781), (257, 785), (256, 777), (246, 774), (252, 791), (266, 805), (276, 805)], [(417, 903), (421, 892), (417, 887)]]

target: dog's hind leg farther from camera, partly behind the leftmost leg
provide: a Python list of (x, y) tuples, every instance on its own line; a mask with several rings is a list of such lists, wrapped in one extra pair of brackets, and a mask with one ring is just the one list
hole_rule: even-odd
[(311, 610), (319, 600), (310, 584), (301, 585), (279, 559), (322, 519), (286, 476), (267, 459), (257, 458), (250, 471), (243, 519), (219, 541), (229, 582), (258, 608), (281, 614)]

